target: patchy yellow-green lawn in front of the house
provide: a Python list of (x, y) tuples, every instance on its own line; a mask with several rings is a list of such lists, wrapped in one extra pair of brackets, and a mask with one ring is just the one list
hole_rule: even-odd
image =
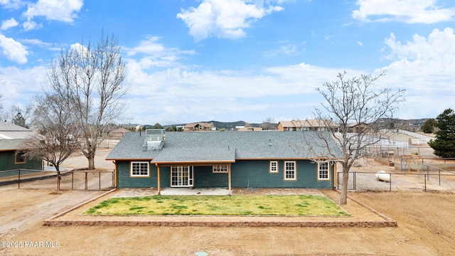
[(349, 215), (325, 196), (141, 196), (109, 198), (85, 215)]

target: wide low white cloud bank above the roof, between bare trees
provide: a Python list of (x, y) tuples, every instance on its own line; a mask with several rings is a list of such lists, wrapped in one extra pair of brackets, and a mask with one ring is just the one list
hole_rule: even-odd
[[(220, 113), (233, 119), (240, 115), (252, 122), (260, 122), (274, 114), (279, 116), (286, 110), (295, 112), (300, 109), (302, 114), (308, 115), (318, 104), (315, 87), (327, 79), (336, 79), (338, 72), (342, 71), (301, 63), (267, 68), (260, 73), (188, 68), (147, 73), (137, 62), (129, 62), (127, 70), (127, 80), (132, 81), (127, 101), (131, 106), (144, 106), (130, 108), (129, 114), (146, 117), (147, 120), (141, 122), (153, 124), (157, 121), (172, 124), (217, 119)], [(279, 107), (272, 103), (287, 97), (295, 97), (296, 102), (280, 101)], [(267, 98), (271, 101), (265, 100)], [(146, 107), (149, 105), (154, 106), (154, 111)], [(259, 117), (257, 113), (260, 112), (269, 114)]]

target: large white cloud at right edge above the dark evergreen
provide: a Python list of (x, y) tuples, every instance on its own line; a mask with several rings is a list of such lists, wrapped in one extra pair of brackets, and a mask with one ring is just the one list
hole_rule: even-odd
[(402, 43), (394, 34), (385, 39), (390, 48), (382, 85), (406, 89), (402, 118), (436, 117), (453, 107), (455, 95), (455, 34), (453, 28), (434, 29), (427, 37), (414, 35)]

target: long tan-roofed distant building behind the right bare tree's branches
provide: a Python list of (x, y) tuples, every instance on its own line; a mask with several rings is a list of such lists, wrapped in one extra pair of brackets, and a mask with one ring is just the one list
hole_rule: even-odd
[(278, 122), (279, 131), (326, 131), (338, 130), (338, 124), (322, 119), (291, 120)]

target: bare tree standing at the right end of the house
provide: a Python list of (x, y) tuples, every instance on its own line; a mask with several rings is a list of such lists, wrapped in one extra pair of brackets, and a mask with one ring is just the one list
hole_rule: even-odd
[[(341, 158), (336, 159), (343, 167), (341, 204), (347, 203), (350, 167), (354, 161), (370, 154), (370, 146), (383, 138), (381, 129), (389, 127), (387, 122), (383, 122), (384, 119), (392, 117), (405, 100), (405, 90), (375, 90), (376, 82), (385, 75), (385, 71), (376, 77), (360, 75), (360, 78), (345, 79), (345, 75), (346, 72), (340, 73), (338, 80), (325, 82), (322, 88), (316, 88), (326, 102), (321, 104), (321, 109), (315, 107), (316, 118), (325, 122), (326, 127), (332, 127), (327, 130), (341, 149)], [(338, 124), (338, 129), (333, 129), (333, 123)], [(358, 126), (358, 129), (352, 130), (352, 124)]]

